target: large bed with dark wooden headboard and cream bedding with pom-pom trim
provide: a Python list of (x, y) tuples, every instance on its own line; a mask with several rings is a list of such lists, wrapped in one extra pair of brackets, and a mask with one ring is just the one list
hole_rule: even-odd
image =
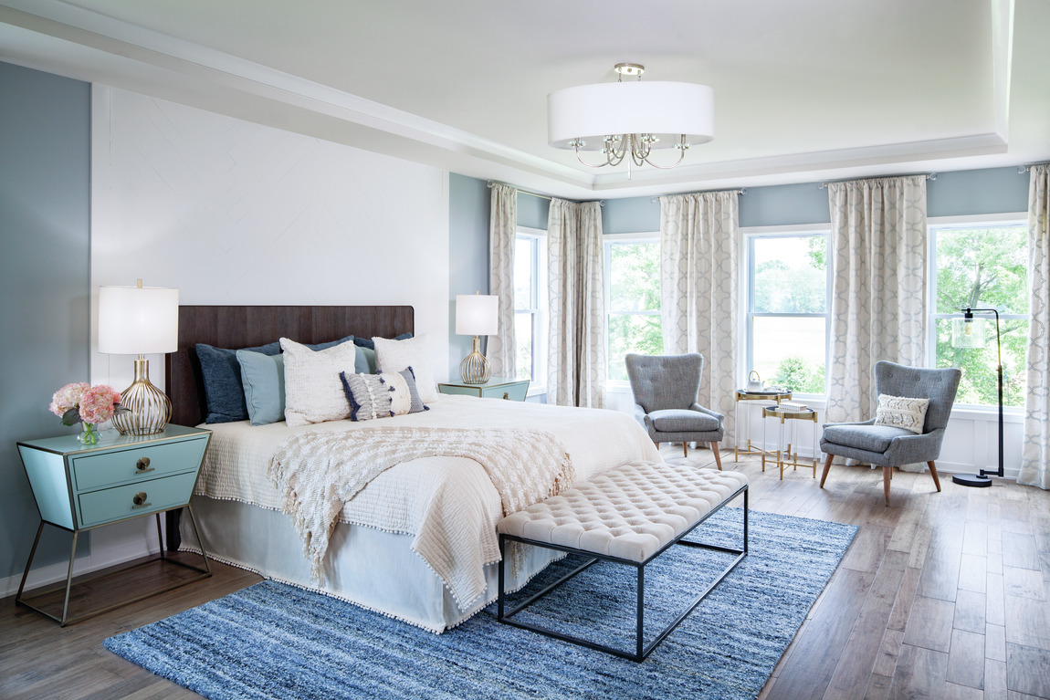
[[(172, 422), (197, 425), (204, 420), (193, 352), (198, 342), (237, 348), (279, 337), (315, 343), (349, 334), (394, 338), (413, 331), (410, 306), (182, 306), (180, 349), (167, 364)], [(379, 424), (391, 430), (541, 430), (564, 446), (576, 480), (632, 460), (658, 459), (645, 431), (623, 413), (463, 396), (442, 396), (426, 411), (382, 421), (303, 427), (285, 422), (208, 424), (211, 446), (193, 496), (208, 552), (220, 561), (433, 632), (453, 628), (484, 608), (497, 595), (496, 524), (504, 505), (479, 461), (467, 457), (412, 459), (379, 473), (339, 512), (323, 557), (324, 576), (318, 580), (312, 575), (300, 532), (266, 476), (271, 459), (304, 431), (342, 434)], [(420, 513), (426, 527), (419, 527)], [(442, 532), (455, 534), (434, 540), (429, 524), (435, 522)], [(192, 530), (180, 534), (183, 549), (196, 549)], [(524, 585), (556, 554), (525, 548), (516, 556), (508, 590)]]

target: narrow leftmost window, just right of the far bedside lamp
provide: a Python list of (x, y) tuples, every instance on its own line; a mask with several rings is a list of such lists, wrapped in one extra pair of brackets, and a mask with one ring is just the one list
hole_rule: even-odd
[(518, 379), (543, 383), (546, 352), (544, 231), (519, 228), (514, 240), (514, 341)]

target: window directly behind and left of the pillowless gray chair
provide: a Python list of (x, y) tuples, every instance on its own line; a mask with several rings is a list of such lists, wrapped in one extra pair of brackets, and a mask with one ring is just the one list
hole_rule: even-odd
[(662, 355), (664, 330), (659, 317), (659, 240), (613, 238), (605, 243), (608, 303), (608, 379), (627, 381), (624, 356)]

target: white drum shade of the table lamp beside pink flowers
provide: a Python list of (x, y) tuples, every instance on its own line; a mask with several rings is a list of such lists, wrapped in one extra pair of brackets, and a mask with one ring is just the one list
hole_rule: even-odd
[(99, 288), (99, 352), (150, 355), (178, 349), (178, 290)]

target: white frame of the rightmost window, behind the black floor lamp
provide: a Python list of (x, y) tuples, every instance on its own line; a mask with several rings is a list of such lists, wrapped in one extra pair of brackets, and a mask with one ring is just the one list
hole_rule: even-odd
[[(962, 216), (931, 216), (926, 219), (926, 276), (929, 279), (926, 297), (926, 366), (937, 366), (937, 321), (943, 318), (962, 318), (962, 311), (958, 314), (937, 313), (937, 233), (943, 229), (979, 229), (994, 227), (1026, 227), (1028, 226), (1028, 212), (1013, 212), (1009, 214), (970, 214)], [(1028, 271), (1031, 274), (1031, 270)], [(1000, 314), (999, 320), (1027, 320), (1031, 322), (1031, 310), (1027, 314)], [(993, 319), (992, 319), (993, 320)], [(999, 405), (993, 404), (964, 404), (956, 403), (952, 412), (959, 409), (973, 413), (998, 413)], [(1021, 416), (1025, 412), (1024, 406), (1003, 406), (1003, 413)]]

